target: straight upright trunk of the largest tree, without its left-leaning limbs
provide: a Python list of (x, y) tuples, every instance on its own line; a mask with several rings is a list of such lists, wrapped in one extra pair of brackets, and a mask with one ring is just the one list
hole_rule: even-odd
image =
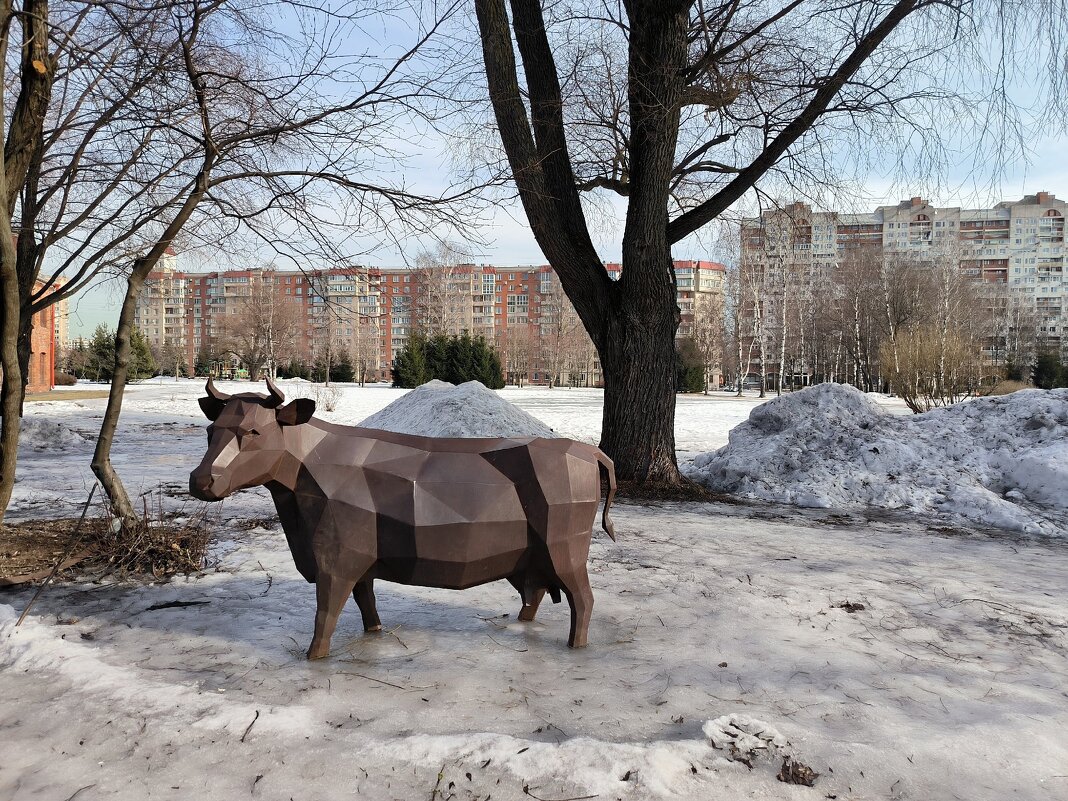
[(621, 476), (678, 483), (675, 332), (679, 309), (668, 240), (669, 184), (678, 140), (688, 9), (633, 3), (628, 99), (630, 195), (621, 293), (595, 342), (604, 371), (601, 449)]

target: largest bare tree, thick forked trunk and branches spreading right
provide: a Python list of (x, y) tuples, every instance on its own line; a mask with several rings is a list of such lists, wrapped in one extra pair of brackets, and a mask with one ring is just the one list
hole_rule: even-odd
[[(1004, 120), (1004, 92), (969, 105), (953, 85), (969, 70), (1005, 87), (1016, 31), (1042, 32), (1042, 89), (1066, 82), (1061, 2), (990, 0), (989, 15), (967, 0), (507, 4), (506, 0), (475, 2), (498, 130), (538, 245), (600, 355), (601, 447), (639, 481), (680, 480), (673, 245), (769, 174), (824, 183), (843, 137), (858, 153), (900, 152), (970, 112)], [(1022, 25), (1032, 13), (1038, 27)], [(619, 281), (590, 235), (580, 193), (595, 190), (627, 202)]]

